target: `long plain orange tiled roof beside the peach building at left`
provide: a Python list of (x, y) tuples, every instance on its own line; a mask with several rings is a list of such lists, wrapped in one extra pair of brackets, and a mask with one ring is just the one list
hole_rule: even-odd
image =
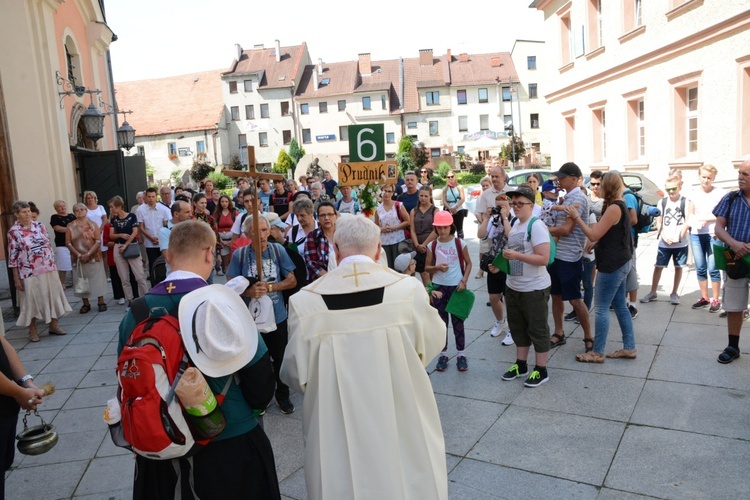
[(213, 129), (221, 117), (221, 70), (115, 83), (120, 110), (136, 136)]

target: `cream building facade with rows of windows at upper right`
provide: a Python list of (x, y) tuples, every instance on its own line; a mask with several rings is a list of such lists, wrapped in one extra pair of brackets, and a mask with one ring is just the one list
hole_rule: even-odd
[[(750, 158), (750, 1), (535, 0), (553, 164), (719, 169)], [(688, 175), (689, 183), (697, 176)]]

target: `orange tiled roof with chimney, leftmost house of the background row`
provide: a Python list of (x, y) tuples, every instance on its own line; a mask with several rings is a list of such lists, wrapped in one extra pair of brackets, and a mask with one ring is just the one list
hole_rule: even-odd
[(276, 47), (243, 50), (242, 57), (232, 64), (224, 76), (263, 72), (260, 89), (285, 88), (292, 86), (292, 80), (303, 64), (307, 44), (281, 47), (281, 60), (276, 62)]

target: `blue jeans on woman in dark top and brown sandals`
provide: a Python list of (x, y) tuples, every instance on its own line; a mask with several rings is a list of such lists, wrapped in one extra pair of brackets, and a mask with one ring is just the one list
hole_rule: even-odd
[(633, 332), (633, 318), (630, 316), (627, 302), (625, 302), (625, 281), (633, 261), (628, 261), (620, 269), (611, 273), (596, 273), (596, 288), (594, 289), (594, 352), (604, 354), (609, 333), (609, 305), (612, 304), (617, 315), (617, 322), (622, 330), (623, 349), (635, 349), (635, 333)]

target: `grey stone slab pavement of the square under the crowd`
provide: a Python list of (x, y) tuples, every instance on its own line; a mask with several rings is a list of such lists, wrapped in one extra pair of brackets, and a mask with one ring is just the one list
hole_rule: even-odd
[[(466, 226), (476, 259), (476, 224)], [(644, 295), (656, 255), (653, 233), (641, 238), (638, 254)], [(699, 297), (692, 271), (683, 278), (682, 304), (671, 305), (672, 276), (671, 268), (664, 272), (659, 300), (638, 304), (638, 359), (577, 363), (583, 335), (566, 322), (572, 338), (553, 350), (550, 380), (535, 389), (500, 380), (515, 348), (490, 337), (485, 282), (470, 280), (476, 303), (466, 322), (469, 371), (459, 373), (454, 358), (443, 373), (434, 362), (429, 367), (451, 498), (750, 498), (750, 359), (716, 362), (727, 343), (726, 320), (690, 308)], [(107, 312), (81, 315), (78, 299), (71, 292), (68, 298), (74, 312), (60, 320), (67, 336), (41, 330), (42, 341), (30, 344), (25, 329), (6, 321), (29, 373), (57, 385), (40, 414), (60, 433), (44, 455), (16, 453), (7, 497), (130, 498), (133, 458), (112, 445), (102, 420), (115, 394), (116, 331), (125, 308), (110, 295)], [(0, 305), (10, 308), (8, 300)], [(619, 347), (612, 315), (608, 351)], [(292, 401), (293, 415), (268, 410), (265, 429), (283, 496), (303, 499), (302, 400), (295, 394)]]

